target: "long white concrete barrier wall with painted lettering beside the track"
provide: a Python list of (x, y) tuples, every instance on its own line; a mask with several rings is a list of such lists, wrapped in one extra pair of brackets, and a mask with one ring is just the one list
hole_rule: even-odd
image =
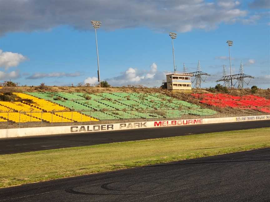
[(0, 138), (83, 133), (83, 132), (116, 131), (116, 130), (185, 126), (185, 125), (198, 125), (210, 123), (248, 122), (259, 120), (270, 120), (270, 115), (227, 117), (227, 118), (199, 118), (199, 119), (148, 121), (148, 122), (133, 122), (133, 123), (112, 123), (101, 125), (11, 128), (11, 129), (0, 129)]

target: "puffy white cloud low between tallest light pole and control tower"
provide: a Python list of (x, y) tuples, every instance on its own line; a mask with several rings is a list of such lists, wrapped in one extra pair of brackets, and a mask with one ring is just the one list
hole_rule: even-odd
[(137, 68), (128, 68), (126, 71), (122, 72), (121, 75), (104, 79), (108, 81), (109, 84), (113, 86), (123, 86), (123, 85), (148, 85), (156, 83), (156, 85), (161, 85), (161, 80), (165, 79), (165, 73), (158, 71), (158, 66), (153, 63), (149, 66), (148, 70), (138, 70)]

